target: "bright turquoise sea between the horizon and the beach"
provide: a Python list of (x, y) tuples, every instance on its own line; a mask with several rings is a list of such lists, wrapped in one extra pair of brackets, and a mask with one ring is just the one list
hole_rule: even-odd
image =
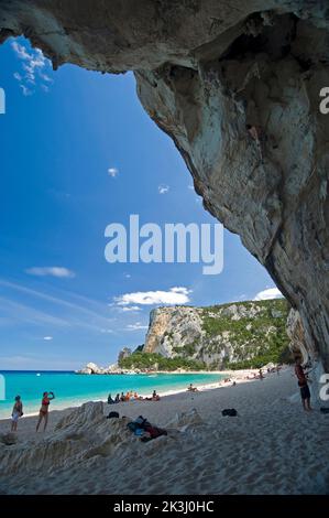
[[(53, 391), (56, 399), (51, 410), (78, 406), (90, 400), (106, 400), (110, 392), (136, 390), (142, 396), (169, 392), (186, 388), (189, 384), (205, 385), (219, 381), (218, 374), (157, 374), (157, 375), (77, 375), (72, 371), (51, 370), (0, 370), (4, 378), (6, 399), (0, 400), (0, 419), (11, 416), (13, 400), (20, 395), (24, 414), (35, 413), (40, 409), (44, 391)], [(2, 378), (2, 379), (3, 379)]]

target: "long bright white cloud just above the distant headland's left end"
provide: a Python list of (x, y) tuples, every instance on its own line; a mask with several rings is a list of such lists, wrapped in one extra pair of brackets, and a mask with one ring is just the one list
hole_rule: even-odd
[(153, 305), (153, 304), (186, 304), (189, 302), (188, 290), (184, 287), (171, 288), (169, 291), (138, 291), (114, 296), (118, 305), (128, 306), (130, 304)]

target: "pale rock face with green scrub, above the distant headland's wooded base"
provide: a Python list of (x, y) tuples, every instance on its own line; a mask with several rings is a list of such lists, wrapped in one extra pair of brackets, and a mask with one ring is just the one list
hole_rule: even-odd
[(285, 300), (160, 307), (151, 312), (143, 353), (196, 359), (219, 368), (274, 358), (289, 343), (287, 314)]

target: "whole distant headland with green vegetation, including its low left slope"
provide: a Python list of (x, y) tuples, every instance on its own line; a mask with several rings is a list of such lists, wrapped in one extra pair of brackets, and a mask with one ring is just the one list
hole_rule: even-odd
[[(166, 312), (162, 325), (161, 312)], [(119, 366), (142, 370), (217, 370), (260, 368), (268, 363), (288, 363), (286, 333), (288, 303), (285, 299), (232, 302), (209, 307), (158, 309), (153, 349), (139, 347), (119, 358)], [(154, 345), (155, 344), (155, 345)], [(123, 355), (124, 356), (124, 355)]]

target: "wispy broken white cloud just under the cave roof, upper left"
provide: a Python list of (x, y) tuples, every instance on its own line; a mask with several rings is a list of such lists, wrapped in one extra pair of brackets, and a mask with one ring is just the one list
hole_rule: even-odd
[[(28, 52), (26, 47), (17, 41), (11, 44), (12, 50), (18, 58), (22, 61), (22, 73), (15, 72), (14, 78), (20, 83), (20, 87), (24, 96), (32, 95), (31, 86), (35, 87), (39, 83), (44, 91), (48, 91), (48, 86), (44, 83), (53, 83), (53, 79), (45, 74), (44, 69), (51, 69), (51, 62), (47, 60), (40, 48), (31, 48)], [(30, 88), (29, 88), (30, 86)]]

